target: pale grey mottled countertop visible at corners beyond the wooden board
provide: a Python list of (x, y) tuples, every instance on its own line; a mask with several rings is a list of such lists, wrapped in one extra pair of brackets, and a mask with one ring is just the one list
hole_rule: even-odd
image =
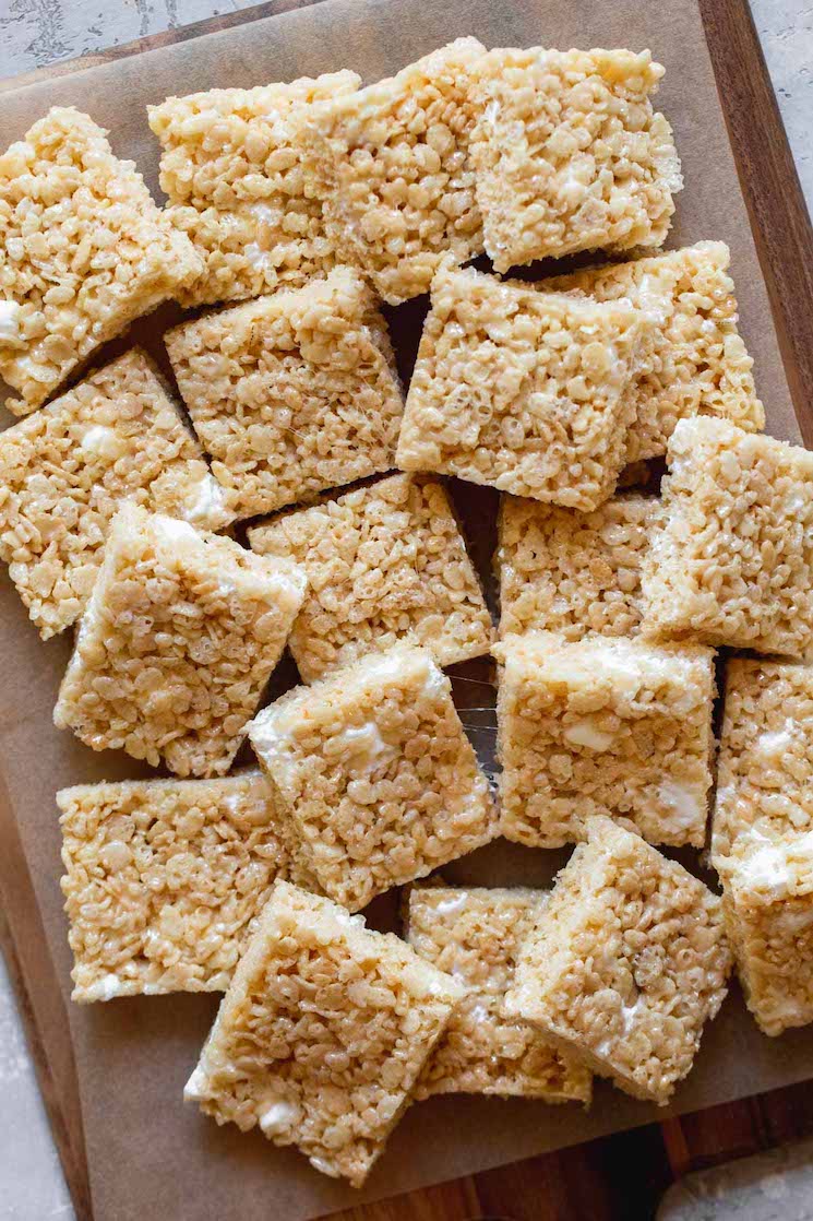
[[(0, 0), (0, 78), (247, 7), (244, 0)], [(751, 0), (751, 7), (813, 211), (813, 6)], [(0, 1221), (68, 1221), (71, 1203), (1, 961), (0, 1133)], [(813, 1194), (813, 1172), (811, 1184)], [(737, 1208), (741, 1221), (761, 1221), (758, 1203), (753, 1211), (741, 1200)]]

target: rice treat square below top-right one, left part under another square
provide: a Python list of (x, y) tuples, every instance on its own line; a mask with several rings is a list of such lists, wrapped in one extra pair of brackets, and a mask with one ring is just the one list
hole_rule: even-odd
[(698, 242), (538, 284), (602, 302), (623, 297), (649, 320), (630, 387), (635, 424), (627, 438), (627, 463), (664, 454), (678, 420), (686, 416), (721, 416), (746, 432), (764, 429), (753, 360), (737, 331), (729, 261), (723, 242)]

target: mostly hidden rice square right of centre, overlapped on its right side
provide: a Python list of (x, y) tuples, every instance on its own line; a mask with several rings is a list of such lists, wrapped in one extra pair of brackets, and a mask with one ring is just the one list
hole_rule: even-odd
[(641, 565), (658, 502), (614, 496), (592, 513), (504, 496), (494, 567), (500, 637), (546, 629), (637, 635)]

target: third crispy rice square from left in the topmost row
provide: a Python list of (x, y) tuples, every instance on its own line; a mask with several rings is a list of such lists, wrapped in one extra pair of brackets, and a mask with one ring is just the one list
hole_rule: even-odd
[(460, 264), (482, 253), (469, 94), (483, 51), (458, 38), (303, 123), (306, 181), (339, 258), (394, 305), (428, 292), (444, 254)]

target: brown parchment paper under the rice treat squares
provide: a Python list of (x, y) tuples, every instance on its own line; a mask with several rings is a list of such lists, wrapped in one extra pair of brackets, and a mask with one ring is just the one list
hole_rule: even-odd
[[(215, 85), (251, 85), (355, 68), (365, 81), (463, 34), (488, 46), (649, 46), (667, 66), (659, 105), (675, 128), (686, 189), (678, 198), (670, 245), (721, 238), (732, 252), (742, 331), (756, 359), (768, 429), (800, 441), (779, 357), (768, 295), (728, 142), (696, 0), (323, 0), (299, 11), (192, 39), (0, 96), (0, 145), (22, 136), (54, 104), (87, 110), (111, 131), (114, 148), (133, 158), (157, 193), (157, 145), (144, 107), (167, 94)], [(420, 306), (392, 311), (393, 337), (408, 364)], [(161, 319), (140, 324), (155, 347)], [(455, 499), (482, 571), (493, 545), (496, 497), (455, 485)], [(142, 774), (132, 759), (94, 755), (51, 724), (70, 641), (42, 643), (7, 578), (0, 585), (0, 800), (7, 795), (38, 899), (46, 945), (35, 922), (15, 933), (38, 939), (23, 956), (48, 951), (62, 988), (65, 1017), (45, 974), (29, 979), (46, 1010), (50, 1038), (60, 1021), (66, 1060), (72, 1044), (81, 1089), (94, 1215), (98, 1221), (306, 1221), (377, 1197), (591, 1139), (663, 1118), (599, 1083), (590, 1114), (521, 1100), (433, 1099), (413, 1107), (393, 1136), (369, 1186), (353, 1192), (308, 1166), (294, 1150), (262, 1137), (217, 1128), (181, 1103), (183, 1083), (216, 1010), (216, 998), (167, 996), (77, 1006), (70, 993), (70, 952), (59, 889), (60, 836), (54, 792), (79, 781)], [(476, 664), (469, 678), (487, 674)], [(488, 685), (455, 685), (461, 705), (493, 702)], [(487, 714), (465, 713), (470, 725)], [(472, 729), (483, 761), (493, 733)], [(0, 840), (1, 842), (1, 840)], [(566, 853), (491, 845), (447, 868), (453, 882), (547, 884)], [(686, 858), (690, 863), (691, 857)], [(707, 1031), (696, 1068), (671, 1114), (813, 1076), (813, 1029), (779, 1040), (761, 1035), (736, 994)]]

